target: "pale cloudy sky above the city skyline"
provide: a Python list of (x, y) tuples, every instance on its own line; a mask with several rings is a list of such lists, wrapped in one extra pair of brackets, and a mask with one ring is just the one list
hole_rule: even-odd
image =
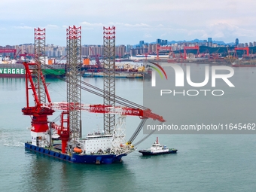
[(82, 44), (103, 44), (103, 26), (116, 27), (116, 45), (157, 38), (256, 41), (256, 1), (251, 0), (1, 0), (0, 45), (34, 43), (46, 29), (46, 44), (66, 46), (66, 29), (82, 27)]

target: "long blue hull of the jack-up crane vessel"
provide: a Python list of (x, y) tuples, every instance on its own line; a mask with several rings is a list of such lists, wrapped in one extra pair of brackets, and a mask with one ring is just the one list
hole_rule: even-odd
[(93, 164), (111, 164), (115, 162), (120, 162), (123, 156), (127, 154), (95, 154), (95, 155), (79, 155), (72, 154), (72, 157), (68, 154), (62, 154), (60, 151), (52, 151), (47, 148), (40, 148), (35, 145), (31, 145), (29, 142), (25, 143), (25, 148), (29, 151), (35, 151), (40, 154), (45, 154), (49, 157), (54, 157), (59, 160), (65, 160), (70, 163), (93, 163)]

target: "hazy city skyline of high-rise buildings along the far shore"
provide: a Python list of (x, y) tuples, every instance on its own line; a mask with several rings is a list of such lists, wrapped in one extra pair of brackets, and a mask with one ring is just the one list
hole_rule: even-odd
[[(139, 41), (139, 44), (136, 46), (133, 45), (116, 45), (115, 47), (115, 55), (119, 57), (123, 56), (134, 56), (138, 54), (149, 54), (149, 53), (157, 53), (157, 47), (163, 47), (162, 51), (164, 50), (164, 53), (169, 51), (180, 51), (184, 50), (185, 47), (203, 47), (203, 51), (208, 50), (209, 47), (211, 48), (218, 48), (218, 50), (221, 48), (222, 52), (227, 52), (227, 49), (231, 49), (233, 51), (234, 47), (244, 48), (247, 47), (248, 50), (251, 49), (251, 53), (254, 50), (254, 47), (256, 47), (256, 41), (249, 42), (249, 43), (239, 43), (239, 39), (236, 38), (236, 43), (233, 44), (217, 44), (218, 41), (212, 41), (212, 38), (208, 38), (207, 40), (201, 41), (201, 42), (183, 42), (183, 43), (172, 43), (169, 44), (167, 40), (163, 39), (157, 39), (156, 42), (153, 44), (145, 43), (145, 41)], [(167, 46), (167, 47), (166, 47)], [(159, 48), (160, 48), (159, 47)], [(227, 47), (226, 49), (223, 49), (224, 47)], [(161, 48), (160, 48), (161, 49)], [(158, 50), (160, 50), (158, 49)], [(199, 48), (200, 49), (200, 48)], [(199, 50), (198, 49), (198, 50)], [(15, 45), (15, 46), (6, 46), (2, 47), (0, 46), (0, 50), (3, 50), (2, 56), (11, 56), (11, 58), (14, 58), (16, 56), (33, 56), (35, 53), (35, 44), (21, 44), (21, 45)], [(213, 49), (212, 51), (218, 51), (216, 49)], [(246, 49), (243, 49), (246, 50)], [(221, 53), (222, 53), (221, 52)], [(82, 57), (95, 57), (102, 56), (104, 53), (104, 47), (103, 45), (97, 45), (97, 44), (84, 44), (81, 45), (81, 56)], [(46, 44), (45, 47), (45, 56), (51, 57), (65, 57), (66, 56), (66, 46), (58, 46), (54, 44)]]

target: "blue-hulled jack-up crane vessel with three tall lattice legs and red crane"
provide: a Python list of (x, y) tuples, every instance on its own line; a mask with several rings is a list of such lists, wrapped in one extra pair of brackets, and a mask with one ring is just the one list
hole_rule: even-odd
[[(67, 32), (67, 101), (52, 102), (47, 90), (42, 69), (45, 67), (45, 29), (35, 29), (35, 63), (24, 62), (26, 69), (26, 107), (24, 115), (32, 117), (32, 140), (25, 143), (26, 150), (35, 151), (72, 163), (114, 163), (136, 150), (136, 145), (150, 136), (145, 136), (136, 144), (134, 139), (142, 130), (148, 118), (165, 121), (149, 108), (138, 105), (115, 95), (115, 27), (104, 27), (104, 85), (103, 90), (81, 80), (81, 26), (69, 26)], [(33, 66), (33, 70), (31, 70)], [(54, 70), (54, 69), (53, 69)], [(85, 105), (81, 103), (81, 90), (103, 97), (103, 104)], [(29, 105), (32, 92), (34, 101)], [(120, 106), (117, 106), (116, 104)], [(55, 111), (62, 111), (60, 123), (48, 121)], [(82, 138), (81, 112), (104, 114), (102, 133), (90, 133)], [(133, 136), (126, 140), (126, 115), (142, 119)], [(117, 116), (117, 120), (116, 120)]]

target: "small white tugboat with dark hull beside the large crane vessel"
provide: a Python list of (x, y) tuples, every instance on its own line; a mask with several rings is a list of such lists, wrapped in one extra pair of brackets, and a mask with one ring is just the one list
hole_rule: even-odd
[(154, 142), (150, 149), (148, 150), (139, 150), (139, 153), (142, 155), (157, 155), (157, 154), (175, 154), (178, 150), (175, 148), (167, 148), (166, 145), (160, 145), (157, 141)]

